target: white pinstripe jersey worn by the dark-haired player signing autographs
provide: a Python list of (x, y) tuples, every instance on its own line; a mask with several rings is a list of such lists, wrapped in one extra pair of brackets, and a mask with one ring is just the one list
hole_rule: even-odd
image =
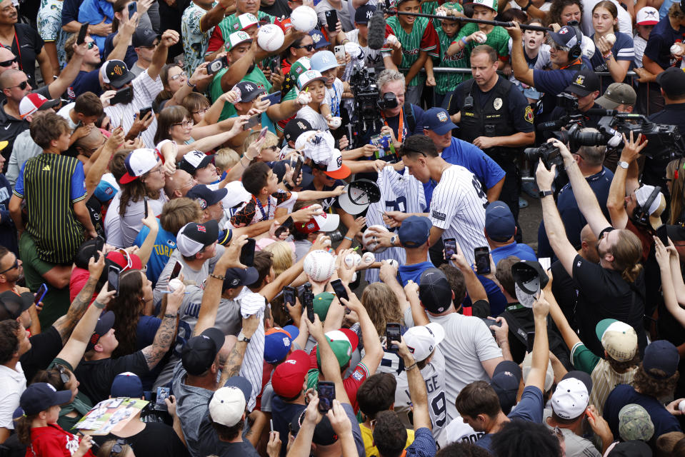
[(484, 235), (487, 203), (476, 176), (460, 165), (445, 169), (433, 191), (431, 222), (444, 230), (443, 239), (456, 238), (469, 263), (474, 262), (474, 248), (488, 245)]

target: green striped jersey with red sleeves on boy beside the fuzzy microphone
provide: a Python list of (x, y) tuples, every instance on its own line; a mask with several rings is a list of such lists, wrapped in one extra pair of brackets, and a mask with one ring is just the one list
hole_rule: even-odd
[[(388, 19), (388, 26), (402, 44), (402, 63), (400, 67), (409, 69), (414, 62), (419, 59), (419, 52), (425, 51), (430, 58), (437, 59), (439, 57), (439, 43), (438, 34), (435, 33), (433, 24), (425, 17), (417, 17), (414, 21), (414, 26), (408, 34), (402, 28), (397, 16), (392, 16)], [(392, 48), (384, 44), (381, 52), (392, 52)], [(421, 86), (426, 81), (426, 74), (419, 73), (414, 76), (414, 79), (409, 81), (409, 86)]]

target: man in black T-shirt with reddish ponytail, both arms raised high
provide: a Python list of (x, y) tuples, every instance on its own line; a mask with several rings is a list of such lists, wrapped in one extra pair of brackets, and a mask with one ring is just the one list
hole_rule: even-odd
[(599, 265), (579, 256), (566, 238), (564, 223), (551, 198), (556, 165), (548, 170), (539, 161), (536, 178), (541, 192), (545, 230), (554, 253), (578, 288), (576, 321), (581, 340), (597, 356), (603, 356), (604, 349), (595, 334), (595, 327), (604, 318), (614, 318), (635, 328), (640, 352), (643, 353), (647, 341), (642, 322), (644, 275), (639, 263), (642, 253), (640, 240), (631, 231), (614, 229), (606, 221), (571, 151), (559, 140), (551, 139), (549, 142), (559, 149), (579, 209), (599, 239)]

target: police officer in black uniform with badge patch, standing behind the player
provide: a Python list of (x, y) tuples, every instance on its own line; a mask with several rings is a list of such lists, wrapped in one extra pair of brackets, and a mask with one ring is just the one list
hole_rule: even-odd
[(518, 223), (521, 171), (516, 157), (535, 142), (533, 110), (524, 94), (497, 74), (497, 62), (496, 51), (486, 44), (471, 51), (474, 78), (456, 86), (449, 112), (460, 124), (459, 138), (478, 146), (504, 169), (499, 199)]

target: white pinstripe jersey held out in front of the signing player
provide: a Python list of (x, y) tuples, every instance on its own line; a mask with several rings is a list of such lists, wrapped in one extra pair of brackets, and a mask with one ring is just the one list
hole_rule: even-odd
[[(409, 175), (405, 168), (404, 174), (399, 174), (391, 166), (386, 166), (379, 171), (376, 179), (379, 189), (381, 189), (381, 200), (371, 204), (366, 211), (366, 226), (380, 225), (383, 222), (385, 211), (402, 211), (404, 213), (423, 213), (426, 207), (424, 198), (424, 186)], [(386, 228), (388, 228), (386, 226)], [(389, 231), (396, 231), (396, 228), (388, 228)], [(406, 252), (404, 248), (387, 248), (383, 252), (374, 253), (376, 261), (389, 260), (394, 258), (400, 264), (406, 263)], [(369, 283), (379, 281), (378, 268), (366, 270), (366, 281)]]

